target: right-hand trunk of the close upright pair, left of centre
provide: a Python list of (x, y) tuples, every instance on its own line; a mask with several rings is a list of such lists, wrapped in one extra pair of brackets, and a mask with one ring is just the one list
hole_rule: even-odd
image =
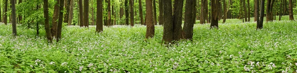
[(89, 0), (84, 0), (84, 25), (89, 27)]

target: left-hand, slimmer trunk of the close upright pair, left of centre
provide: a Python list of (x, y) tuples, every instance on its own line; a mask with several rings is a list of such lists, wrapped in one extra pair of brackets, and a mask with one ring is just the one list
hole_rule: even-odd
[(79, 1), (79, 26), (83, 27), (84, 26), (84, 7), (83, 7), (83, 0), (78, 0)]

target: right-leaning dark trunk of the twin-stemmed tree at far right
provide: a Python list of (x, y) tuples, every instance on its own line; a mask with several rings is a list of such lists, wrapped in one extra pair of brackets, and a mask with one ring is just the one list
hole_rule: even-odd
[(260, 12), (259, 22), (257, 22), (257, 29), (262, 29), (263, 28), (264, 4), (265, 4), (265, 0), (261, 0), (261, 6), (260, 6), (261, 7), (261, 12)]

